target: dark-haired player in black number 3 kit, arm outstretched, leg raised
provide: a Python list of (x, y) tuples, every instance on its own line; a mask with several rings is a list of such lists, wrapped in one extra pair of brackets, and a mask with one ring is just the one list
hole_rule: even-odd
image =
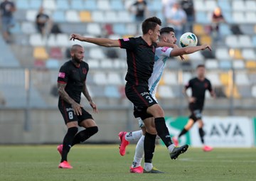
[(154, 54), (158, 46), (172, 46), (170, 43), (156, 42), (160, 35), (161, 20), (156, 17), (147, 18), (142, 23), (143, 35), (137, 38), (123, 38), (111, 40), (109, 38), (87, 38), (78, 34), (72, 34), (70, 40), (81, 40), (88, 43), (95, 43), (105, 47), (120, 47), (127, 50), (127, 75), (125, 77), (125, 94), (134, 104), (134, 108), (142, 120), (154, 117), (153, 121), (144, 121), (146, 134), (144, 139), (144, 172), (161, 172), (153, 168), (152, 158), (155, 148), (156, 133), (169, 150), (171, 159), (178, 158), (178, 155), (186, 152), (188, 145), (175, 147), (171, 141), (169, 130), (166, 127), (164, 111), (157, 104), (149, 93), (149, 77), (153, 72)]

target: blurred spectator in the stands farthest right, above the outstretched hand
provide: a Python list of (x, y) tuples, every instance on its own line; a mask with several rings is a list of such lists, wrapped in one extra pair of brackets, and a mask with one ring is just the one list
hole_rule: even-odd
[(211, 33), (213, 36), (213, 40), (218, 41), (221, 39), (219, 33), (219, 25), (220, 23), (225, 23), (225, 18), (220, 7), (216, 7), (213, 11), (212, 16), (212, 26), (211, 26)]

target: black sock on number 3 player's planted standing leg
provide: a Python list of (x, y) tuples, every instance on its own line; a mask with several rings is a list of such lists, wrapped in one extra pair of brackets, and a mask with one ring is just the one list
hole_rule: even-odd
[(152, 163), (155, 143), (156, 143), (156, 135), (146, 132), (145, 139), (144, 139), (145, 163)]

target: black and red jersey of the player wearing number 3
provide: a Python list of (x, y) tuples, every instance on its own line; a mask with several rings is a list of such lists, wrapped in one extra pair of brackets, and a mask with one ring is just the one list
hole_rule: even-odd
[(148, 45), (142, 37), (119, 39), (120, 48), (127, 51), (127, 75), (125, 80), (131, 85), (149, 85), (153, 72), (156, 43)]

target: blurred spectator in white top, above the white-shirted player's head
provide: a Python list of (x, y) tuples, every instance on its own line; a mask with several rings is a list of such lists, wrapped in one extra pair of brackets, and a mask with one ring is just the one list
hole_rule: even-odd
[(177, 2), (171, 7), (171, 11), (166, 16), (166, 23), (173, 27), (175, 30), (176, 37), (179, 39), (183, 33), (183, 27), (186, 23), (186, 12), (181, 9), (181, 5)]

